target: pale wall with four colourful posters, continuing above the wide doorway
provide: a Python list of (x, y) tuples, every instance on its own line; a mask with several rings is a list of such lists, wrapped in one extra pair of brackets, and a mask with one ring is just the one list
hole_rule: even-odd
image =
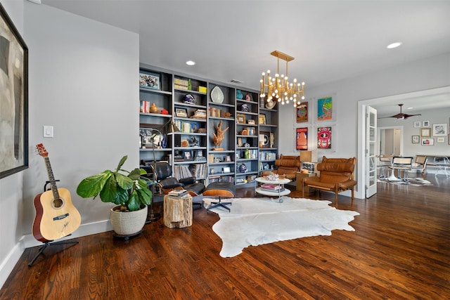
[[(318, 157), (326, 155), (329, 157), (359, 157), (358, 141), (362, 136), (359, 125), (358, 102), (384, 96), (422, 91), (444, 86), (450, 86), (450, 53), (435, 56), (416, 62), (399, 65), (387, 70), (380, 70), (371, 74), (361, 74), (359, 77), (345, 79), (342, 81), (316, 86), (306, 90), (307, 100), (315, 103), (318, 98), (333, 96), (333, 114), (335, 122), (327, 122), (333, 126), (333, 150), (323, 150)], [(292, 105), (281, 106), (280, 127), (292, 130), (291, 134), (281, 136), (280, 152), (283, 154), (298, 154), (295, 150), (295, 131), (293, 128), (302, 127), (295, 122), (295, 112)], [(315, 110), (313, 110), (314, 114)], [(314, 115), (309, 116), (314, 118)], [(361, 116), (362, 117), (362, 116)], [(317, 122), (310, 121), (307, 125), (312, 132), (318, 126)], [(312, 135), (309, 146), (314, 147), (315, 142)], [(364, 198), (364, 185), (360, 171), (361, 159), (358, 164), (358, 185), (355, 197)]]

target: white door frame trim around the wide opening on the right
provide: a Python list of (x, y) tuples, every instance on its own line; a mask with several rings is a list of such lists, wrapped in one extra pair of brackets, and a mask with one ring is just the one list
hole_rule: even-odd
[[(358, 167), (358, 169), (356, 178), (359, 183), (366, 183), (366, 164), (364, 163), (366, 157), (366, 106), (376, 106), (377, 104), (391, 102), (397, 104), (401, 103), (402, 100), (407, 98), (435, 96), (443, 93), (450, 93), (450, 86), (445, 86), (437, 89), (427, 89), (423, 91), (414, 91), (411, 93), (400, 93), (393, 96), (385, 96), (358, 101), (358, 152), (356, 153), (356, 166)], [(355, 191), (355, 197), (359, 199), (365, 199), (366, 190), (364, 188), (358, 188)]]

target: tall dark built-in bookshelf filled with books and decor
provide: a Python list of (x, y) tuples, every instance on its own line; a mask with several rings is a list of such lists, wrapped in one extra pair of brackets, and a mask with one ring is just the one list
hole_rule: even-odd
[[(167, 161), (178, 179), (251, 183), (278, 157), (278, 111), (238, 86), (141, 64), (139, 123), (141, 164)], [(169, 133), (171, 123), (179, 131)]]

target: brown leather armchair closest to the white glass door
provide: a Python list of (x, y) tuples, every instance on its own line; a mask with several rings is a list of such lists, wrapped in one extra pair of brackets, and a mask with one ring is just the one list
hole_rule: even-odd
[[(338, 193), (345, 190), (352, 190), (352, 205), (354, 202), (354, 165), (356, 158), (327, 158), (323, 157), (322, 162), (317, 164), (319, 176), (303, 178), (303, 187), (316, 188), (318, 190), (328, 190), (334, 192), (336, 205), (338, 205)], [(302, 192), (304, 197), (304, 188)]]

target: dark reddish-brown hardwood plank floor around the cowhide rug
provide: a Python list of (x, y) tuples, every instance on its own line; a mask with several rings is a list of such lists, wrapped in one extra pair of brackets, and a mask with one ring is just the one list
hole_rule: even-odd
[(353, 207), (340, 196), (338, 209), (360, 213), (354, 232), (249, 247), (230, 259), (219, 256), (219, 218), (205, 209), (189, 228), (161, 219), (129, 241), (108, 232), (49, 247), (32, 267), (38, 248), (26, 249), (0, 299), (449, 299), (450, 178), (428, 180), (434, 185), (378, 183), (378, 194)]

